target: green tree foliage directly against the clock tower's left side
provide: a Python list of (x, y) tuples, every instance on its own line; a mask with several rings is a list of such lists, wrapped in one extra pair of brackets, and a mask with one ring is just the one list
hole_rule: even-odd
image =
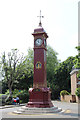
[(14, 88), (28, 90), (33, 84), (33, 57), (33, 50), (30, 48), (28, 49), (28, 55), (21, 64), (23, 72), (17, 77), (18, 83), (15, 84)]

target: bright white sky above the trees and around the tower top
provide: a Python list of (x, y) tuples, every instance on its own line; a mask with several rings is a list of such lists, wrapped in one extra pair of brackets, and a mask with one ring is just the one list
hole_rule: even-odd
[(78, 45), (79, 0), (2, 0), (0, 1), (0, 54), (18, 48), (27, 54), (33, 48), (33, 33), (38, 27), (40, 10), (42, 26), (48, 33), (48, 45), (58, 59), (75, 56)]

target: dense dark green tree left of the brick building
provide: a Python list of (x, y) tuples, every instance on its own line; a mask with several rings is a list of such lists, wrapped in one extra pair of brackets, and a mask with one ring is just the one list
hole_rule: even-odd
[(70, 72), (74, 65), (74, 57), (68, 57), (67, 60), (59, 64), (55, 70), (55, 83), (59, 85), (61, 89), (65, 89), (70, 92), (71, 81), (70, 81)]

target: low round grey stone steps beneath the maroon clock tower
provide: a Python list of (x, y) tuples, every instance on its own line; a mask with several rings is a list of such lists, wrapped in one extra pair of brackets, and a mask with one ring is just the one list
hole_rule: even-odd
[(24, 114), (24, 115), (37, 115), (37, 114), (47, 114), (47, 113), (59, 113), (62, 112), (61, 108), (58, 107), (51, 107), (51, 108), (30, 108), (23, 106), (21, 109), (17, 111), (13, 111), (15, 114)]

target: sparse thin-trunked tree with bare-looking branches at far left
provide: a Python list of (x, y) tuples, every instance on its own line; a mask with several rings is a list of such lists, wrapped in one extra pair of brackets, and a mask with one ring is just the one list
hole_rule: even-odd
[[(9, 88), (10, 96), (12, 96), (12, 87), (15, 82), (17, 82), (17, 76), (22, 71), (21, 63), (23, 62), (23, 55), (20, 56), (18, 54), (17, 49), (12, 49), (8, 55), (5, 55), (5, 52), (2, 55), (2, 76), (3, 82), (7, 83), (7, 87)], [(19, 66), (17, 69), (17, 65)], [(3, 85), (2, 85), (3, 86)]]

